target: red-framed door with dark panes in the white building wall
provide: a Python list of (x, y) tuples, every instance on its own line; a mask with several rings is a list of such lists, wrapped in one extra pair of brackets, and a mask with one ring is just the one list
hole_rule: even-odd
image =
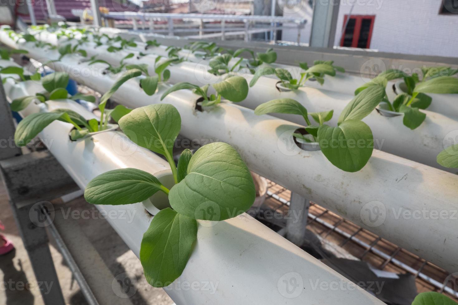
[[(348, 20), (348, 24), (347, 24)], [(341, 47), (370, 48), (375, 15), (345, 15)]]

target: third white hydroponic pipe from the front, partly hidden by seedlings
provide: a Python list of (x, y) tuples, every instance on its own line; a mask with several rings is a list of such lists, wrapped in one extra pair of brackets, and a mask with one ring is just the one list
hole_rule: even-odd
[[(54, 34), (46, 33), (43, 39), (50, 43), (55, 43), (56, 37)], [(5, 35), (2, 35), (5, 37)], [(40, 37), (37, 35), (37, 37)], [(5, 37), (6, 40), (11, 39)], [(11, 46), (15, 46), (12, 43)], [(105, 46), (95, 48), (93, 43), (87, 43), (87, 56), (97, 55), (98, 59), (104, 59), (110, 64), (118, 65), (121, 58), (129, 54), (131, 51), (119, 51), (111, 53), (106, 51)], [(53, 54), (53, 53), (48, 53)], [(56, 52), (55, 52), (56, 54)], [(50, 55), (49, 55), (50, 56)], [(52, 59), (58, 58), (54, 55)], [(135, 56), (125, 59), (125, 63), (129, 64), (148, 64), (148, 69), (151, 75), (154, 75), (154, 63), (157, 57), (153, 55), (144, 56), (137, 59)], [(220, 81), (223, 76), (215, 76), (207, 72), (207, 66), (202, 64), (194, 64), (190, 62), (181, 62), (169, 66), (171, 71), (169, 82), (191, 82), (196, 85), (211, 84)], [(252, 79), (252, 75), (243, 75), (248, 82)], [(255, 109), (263, 102), (267, 102), (276, 98), (292, 98), (304, 105), (309, 112), (322, 112), (334, 110), (331, 124), (337, 124), (338, 114), (342, 112), (347, 103), (353, 98), (346, 94), (318, 90), (314, 88), (300, 88), (297, 91), (279, 92), (276, 88), (277, 80), (269, 77), (261, 77), (255, 86), (251, 87), (248, 96), (240, 105)], [(423, 111), (423, 110), (422, 110)], [(445, 115), (424, 110), (427, 114), (425, 121), (420, 127), (410, 130), (403, 125), (403, 115), (397, 117), (385, 117), (374, 110), (369, 116), (363, 119), (372, 130), (375, 140), (375, 147), (379, 150), (401, 156), (403, 158), (420, 162), (425, 165), (440, 168), (444, 171), (455, 172), (453, 168), (440, 166), (436, 162), (437, 155), (446, 147), (454, 144), (453, 140), (456, 135), (454, 133), (458, 127), (458, 121), (448, 118)], [(273, 114), (278, 118), (283, 118), (288, 121), (302, 124), (303, 120), (299, 116), (288, 114)]]

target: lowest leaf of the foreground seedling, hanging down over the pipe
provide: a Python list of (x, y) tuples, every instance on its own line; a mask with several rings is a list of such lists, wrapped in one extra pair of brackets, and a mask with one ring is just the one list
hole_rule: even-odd
[(165, 287), (178, 278), (191, 256), (197, 238), (197, 221), (173, 209), (161, 210), (143, 234), (140, 261), (147, 282)]

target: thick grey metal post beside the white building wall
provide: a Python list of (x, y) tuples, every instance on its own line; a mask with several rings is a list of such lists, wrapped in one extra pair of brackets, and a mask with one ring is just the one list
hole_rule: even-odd
[(310, 46), (332, 48), (336, 36), (340, 0), (315, 1), (310, 33)]

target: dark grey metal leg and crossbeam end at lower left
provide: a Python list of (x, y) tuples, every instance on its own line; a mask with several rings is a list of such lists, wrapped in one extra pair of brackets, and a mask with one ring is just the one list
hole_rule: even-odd
[(74, 192), (79, 187), (48, 152), (32, 152), (2, 160), (0, 171), (35, 278), (38, 282), (53, 283), (49, 293), (42, 290), (44, 303), (64, 305), (64, 297), (49, 251), (45, 230), (47, 219), (41, 217), (40, 202)]

